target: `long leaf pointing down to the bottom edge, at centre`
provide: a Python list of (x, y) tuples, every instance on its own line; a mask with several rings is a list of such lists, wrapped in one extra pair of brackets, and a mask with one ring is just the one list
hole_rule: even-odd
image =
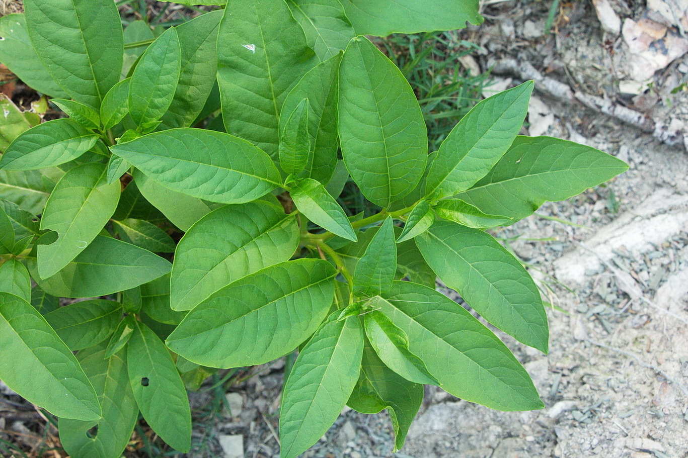
[(334, 424), (354, 390), (363, 356), (361, 320), (334, 313), (303, 347), (284, 386), (281, 458), (294, 458)]

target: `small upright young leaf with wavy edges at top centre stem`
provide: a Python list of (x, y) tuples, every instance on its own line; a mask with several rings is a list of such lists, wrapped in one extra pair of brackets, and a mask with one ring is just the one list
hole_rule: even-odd
[(284, 122), (280, 121), (279, 165), (290, 175), (299, 175), (308, 164), (308, 107), (308, 98), (304, 98), (288, 117), (283, 116)]

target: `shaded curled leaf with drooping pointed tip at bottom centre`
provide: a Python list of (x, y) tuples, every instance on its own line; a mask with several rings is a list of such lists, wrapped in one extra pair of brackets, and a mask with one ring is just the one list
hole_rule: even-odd
[(347, 405), (361, 413), (378, 413), (387, 408), (394, 426), (394, 451), (404, 445), (413, 418), (423, 402), (423, 386), (409, 382), (385, 366), (366, 343), (361, 361), (361, 376)]

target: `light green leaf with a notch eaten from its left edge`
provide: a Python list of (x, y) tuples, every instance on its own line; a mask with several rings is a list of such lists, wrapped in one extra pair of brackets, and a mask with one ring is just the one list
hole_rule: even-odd
[(41, 279), (53, 276), (71, 262), (110, 219), (120, 198), (120, 184), (107, 184), (103, 164), (76, 166), (65, 173), (45, 204), (41, 230), (54, 230), (59, 238), (39, 245)]

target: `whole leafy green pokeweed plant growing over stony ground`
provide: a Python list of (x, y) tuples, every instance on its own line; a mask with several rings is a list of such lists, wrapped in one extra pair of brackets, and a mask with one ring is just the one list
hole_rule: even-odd
[[(626, 164), (519, 136), (533, 82), (478, 103), (428, 154), (413, 90), (362, 34), (480, 23), (477, 1), (186, 3), (226, 8), (158, 36), (122, 32), (112, 0), (25, 0), (0, 19), (0, 60), (68, 116), (39, 124), (0, 100), (3, 382), (59, 417), (73, 457), (120, 456), (139, 411), (188, 451), (185, 387), (297, 349), (283, 458), (345, 405), (387, 409), (400, 448), (423, 384), (543, 407), (436, 276), (548, 351), (535, 283), (486, 230)], [(383, 210), (347, 217), (348, 177)]]

